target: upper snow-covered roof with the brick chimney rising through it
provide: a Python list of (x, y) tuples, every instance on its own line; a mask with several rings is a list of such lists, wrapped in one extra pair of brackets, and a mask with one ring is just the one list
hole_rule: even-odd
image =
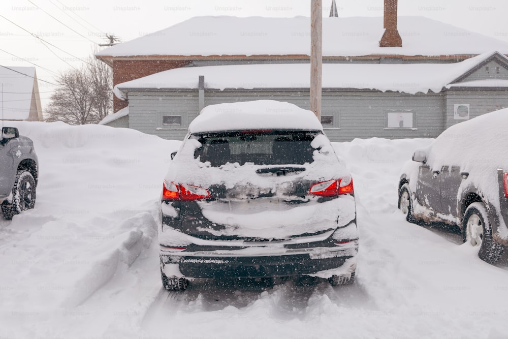
[[(323, 56), (453, 55), (508, 43), (422, 16), (399, 16), (402, 47), (379, 47), (383, 17), (323, 18)], [(310, 18), (202, 16), (106, 48), (97, 56), (310, 55)]]

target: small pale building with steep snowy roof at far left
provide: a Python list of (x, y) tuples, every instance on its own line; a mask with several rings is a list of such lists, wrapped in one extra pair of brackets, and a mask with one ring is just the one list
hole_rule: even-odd
[(2, 120), (43, 121), (35, 67), (0, 67)]

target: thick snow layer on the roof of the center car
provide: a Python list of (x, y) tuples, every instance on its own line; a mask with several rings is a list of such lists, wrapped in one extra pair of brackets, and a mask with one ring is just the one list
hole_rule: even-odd
[(273, 128), (323, 130), (312, 111), (287, 102), (256, 100), (206, 106), (190, 122), (189, 132)]

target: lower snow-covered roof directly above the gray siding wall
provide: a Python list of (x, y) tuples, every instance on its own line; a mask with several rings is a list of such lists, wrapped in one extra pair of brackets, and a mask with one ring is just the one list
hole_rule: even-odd
[[(374, 89), (408, 94), (439, 93), (444, 86), (477, 67), (492, 56), (506, 61), (497, 52), (489, 52), (455, 64), (323, 64), (323, 88)], [(309, 64), (268, 64), (184, 67), (120, 83), (114, 93), (126, 99), (135, 89), (198, 88), (203, 75), (205, 88), (309, 88)]]

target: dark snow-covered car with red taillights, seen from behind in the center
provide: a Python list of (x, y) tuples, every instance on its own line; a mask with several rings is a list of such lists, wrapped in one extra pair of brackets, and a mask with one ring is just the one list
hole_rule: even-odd
[(205, 107), (161, 200), (167, 290), (194, 278), (354, 281), (353, 179), (311, 111), (271, 100)]

